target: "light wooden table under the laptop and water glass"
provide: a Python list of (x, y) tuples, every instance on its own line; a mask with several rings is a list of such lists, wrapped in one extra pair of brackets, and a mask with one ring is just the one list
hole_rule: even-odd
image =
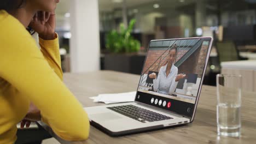
[[(82, 74), (64, 74), (64, 82), (84, 106), (102, 105), (89, 97), (100, 93), (136, 91), (139, 75), (114, 71), (97, 71)], [(193, 123), (183, 127), (149, 131), (121, 137), (110, 137), (90, 127), (89, 139), (83, 142), (63, 141), (48, 128), (60, 143), (255, 143), (256, 141), (256, 93), (242, 94), (241, 137), (218, 137), (216, 126), (216, 87), (203, 86)], [(67, 122), (68, 124), (68, 122)]]

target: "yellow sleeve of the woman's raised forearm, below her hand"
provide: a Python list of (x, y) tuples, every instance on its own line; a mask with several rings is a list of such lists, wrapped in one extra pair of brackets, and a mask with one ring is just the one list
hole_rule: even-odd
[(55, 33), (55, 39), (53, 40), (44, 40), (39, 37), (39, 45), (50, 67), (53, 68), (54, 72), (63, 80), (58, 35)]

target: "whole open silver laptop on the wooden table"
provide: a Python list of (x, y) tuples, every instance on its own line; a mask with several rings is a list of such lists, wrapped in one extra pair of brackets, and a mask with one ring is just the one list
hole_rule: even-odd
[(110, 136), (121, 136), (192, 123), (212, 40), (151, 40), (135, 100), (85, 107), (90, 124)]

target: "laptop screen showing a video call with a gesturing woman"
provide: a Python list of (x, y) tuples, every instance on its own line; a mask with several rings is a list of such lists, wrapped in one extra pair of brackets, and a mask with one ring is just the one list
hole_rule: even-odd
[(136, 101), (192, 117), (211, 38), (150, 41)]

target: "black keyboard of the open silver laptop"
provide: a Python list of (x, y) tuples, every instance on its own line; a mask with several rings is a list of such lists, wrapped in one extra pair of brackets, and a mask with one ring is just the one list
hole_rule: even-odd
[(142, 123), (172, 119), (172, 117), (168, 117), (165, 115), (161, 115), (160, 113), (142, 109), (141, 107), (135, 105), (113, 106), (107, 107), (107, 109), (118, 112), (121, 115), (125, 115), (127, 117), (136, 119), (137, 121)]

